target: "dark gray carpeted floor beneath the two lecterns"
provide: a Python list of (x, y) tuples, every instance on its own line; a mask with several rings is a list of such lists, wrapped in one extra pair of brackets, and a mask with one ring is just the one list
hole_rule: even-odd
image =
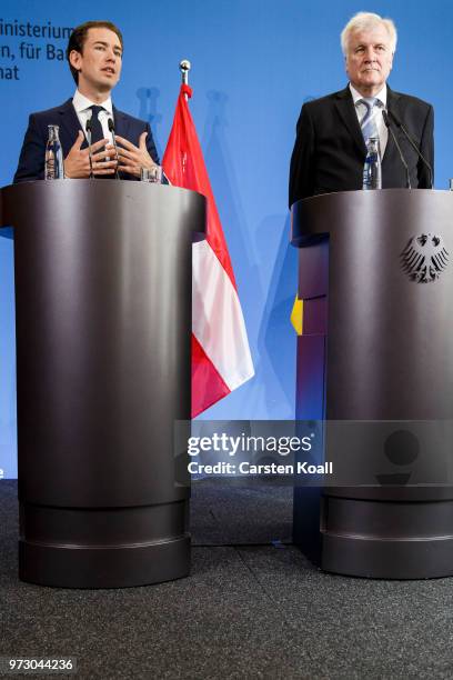
[(0, 482), (1, 656), (73, 656), (78, 678), (453, 678), (453, 579), (321, 573), (290, 544), (288, 488), (198, 482), (192, 574), (98, 591), (18, 581), (16, 496)]

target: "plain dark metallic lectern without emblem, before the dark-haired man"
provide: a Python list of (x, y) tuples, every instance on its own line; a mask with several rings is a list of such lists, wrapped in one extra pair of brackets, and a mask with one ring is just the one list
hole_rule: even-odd
[[(7, 187), (14, 228), (19, 570), (76, 588), (187, 576), (191, 246), (202, 196), (141, 182)], [(178, 483), (181, 482), (181, 483)]]

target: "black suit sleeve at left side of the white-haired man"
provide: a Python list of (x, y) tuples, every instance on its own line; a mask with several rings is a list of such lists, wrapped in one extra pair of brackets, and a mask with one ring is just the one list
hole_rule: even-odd
[(306, 104), (298, 121), (295, 144), (290, 167), (290, 208), (295, 201), (313, 193), (314, 129)]

